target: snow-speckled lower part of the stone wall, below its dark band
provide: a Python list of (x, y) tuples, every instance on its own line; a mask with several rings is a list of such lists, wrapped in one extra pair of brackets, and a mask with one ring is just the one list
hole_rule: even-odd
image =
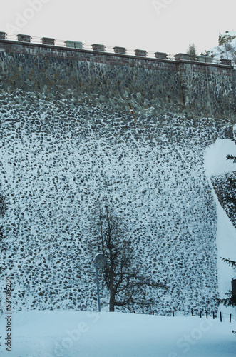
[(224, 129), (151, 115), (140, 116), (140, 129), (126, 116), (121, 134), (113, 123), (124, 119), (101, 106), (84, 119), (69, 100), (51, 103), (53, 113), (64, 108), (66, 125), (60, 116), (46, 120), (48, 102), (30, 94), (17, 111), (21, 99), (4, 94), (0, 149), (10, 203), (1, 274), (12, 276), (15, 308), (96, 309), (89, 222), (104, 196), (128, 223), (145, 272), (169, 286), (154, 292), (151, 310), (216, 308), (216, 216), (202, 153)]

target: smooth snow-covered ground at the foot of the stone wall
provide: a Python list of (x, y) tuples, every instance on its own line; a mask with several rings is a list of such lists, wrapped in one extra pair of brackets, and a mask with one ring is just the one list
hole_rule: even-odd
[[(5, 321), (1, 318), (0, 328)], [(235, 321), (126, 313), (31, 311), (13, 316), (12, 357), (232, 357)], [(3, 338), (3, 337), (2, 337)]]

